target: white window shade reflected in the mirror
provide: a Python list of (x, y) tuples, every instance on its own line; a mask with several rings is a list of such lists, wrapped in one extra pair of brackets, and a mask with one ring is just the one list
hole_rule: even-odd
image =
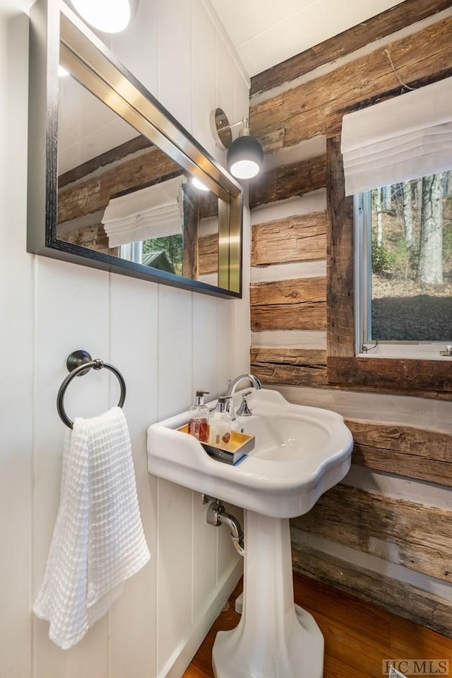
[(102, 217), (109, 247), (182, 233), (181, 188), (185, 182), (186, 177), (175, 177), (112, 198)]

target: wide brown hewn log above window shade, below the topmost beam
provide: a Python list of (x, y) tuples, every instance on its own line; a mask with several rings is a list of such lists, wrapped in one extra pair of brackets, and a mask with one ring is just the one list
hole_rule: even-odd
[[(407, 2), (414, 4), (405, 0), (400, 7), (406, 6)], [(414, 18), (407, 13), (407, 23)], [(372, 20), (367, 22), (368, 30), (371, 23)], [(401, 80), (411, 87), (450, 76), (451, 26), (452, 18), (447, 17), (415, 35), (393, 41), (388, 39), (387, 44), (379, 44), (370, 54), (251, 105), (251, 131), (258, 138), (278, 131), (283, 148), (319, 134), (332, 136), (335, 124), (340, 123), (342, 115), (354, 109), (357, 102), (368, 105), (381, 97), (400, 94), (400, 82), (385, 49), (391, 54)]]

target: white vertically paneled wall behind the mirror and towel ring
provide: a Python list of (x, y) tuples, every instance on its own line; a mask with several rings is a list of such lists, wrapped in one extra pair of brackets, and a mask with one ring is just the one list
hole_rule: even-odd
[[(249, 83), (208, 1), (142, 1), (110, 46), (224, 162), (210, 111), (222, 105), (244, 117)], [(27, 78), (28, 19), (0, 10), (0, 678), (177, 678), (241, 563), (227, 530), (205, 523), (198, 494), (148, 474), (145, 429), (186, 409), (196, 388), (214, 397), (247, 371), (248, 292), (227, 301), (27, 254)], [(245, 234), (247, 270), (247, 215)], [(124, 374), (152, 558), (109, 614), (63, 651), (31, 607), (59, 501), (66, 431), (56, 396), (66, 356), (78, 348)], [(116, 380), (103, 370), (71, 382), (65, 404), (70, 417), (90, 416), (117, 398)]]

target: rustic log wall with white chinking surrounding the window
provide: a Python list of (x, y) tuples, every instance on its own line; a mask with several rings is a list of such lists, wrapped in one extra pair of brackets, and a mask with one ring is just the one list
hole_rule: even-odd
[[(352, 275), (350, 235), (340, 234), (338, 227), (331, 246), (331, 210), (343, 209), (343, 203), (332, 193), (335, 167), (326, 148), (331, 153), (332, 144), (337, 145), (345, 112), (401, 93), (386, 48), (400, 78), (413, 87), (452, 74), (451, 6), (451, 1), (405, 0), (252, 78), (251, 131), (268, 155), (281, 158), (250, 189), (251, 370), (264, 383), (326, 389), (332, 387), (328, 370), (338, 374), (342, 369), (341, 378), (347, 374), (347, 365), (327, 360), (333, 343), (334, 360), (340, 361), (341, 351), (347, 357), (353, 336), (350, 295), (334, 280)], [(415, 25), (438, 12), (431, 21)], [(413, 25), (410, 35), (391, 35), (408, 25)], [(377, 39), (374, 49), (367, 47), (355, 59), (325, 68)], [(311, 71), (318, 66), (323, 69), (316, 76)], [(313, 152), (309, 140), (323, 140), (324, 153)], [(285, 157), (290, 157), (289, 164)], [(336, 333), (329, 335), (328, 347), (327, 316)], [(406, 366), (399, 367), (408, 374)], [(413, 379), (420, 383), (412, 383), (411, 393), (448, 397), (444, 392), (451, 388), (450, 374), (423, 368), (415, 373)], [(374, 379), (362, 390), (388, 391), (393, 384), (386, 381)], [(452, 595), (438, 595), (452, 578), (452, 511), (430, 501), (427, 492), (440, 488), (444, 496), (452, 487), (452, 434), (389, 424), (374, 416), (372, 422), (347, 420), (355, 439), (352, 463), (367, 478), (393, 478), (389, 487), (403, 480), (412, 487), (412, 496), (400, 498), (395, 489), (379, 491), (378, 483), (371, 490), (369, 483), (359, 487), (356, 475), (355, 484), (331, 489), (306, 516), (292, 521), (294, 568), (452, 636)], [(330, 545), (328, 553), (322, 544)], [(341, 549), (347, 558), (332, 555)], [(368, 569), (362, 557), (398, 566), (402, 574), (394, 578), (384, 566)], [(435, 581), (443, 588), (432, 588)]]

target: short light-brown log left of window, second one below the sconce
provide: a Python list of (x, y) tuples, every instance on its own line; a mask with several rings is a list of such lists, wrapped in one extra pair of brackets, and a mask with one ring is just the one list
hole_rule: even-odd
[(251, 266), (324, 259), (325, 256), (325, 210), (252, 227)]

